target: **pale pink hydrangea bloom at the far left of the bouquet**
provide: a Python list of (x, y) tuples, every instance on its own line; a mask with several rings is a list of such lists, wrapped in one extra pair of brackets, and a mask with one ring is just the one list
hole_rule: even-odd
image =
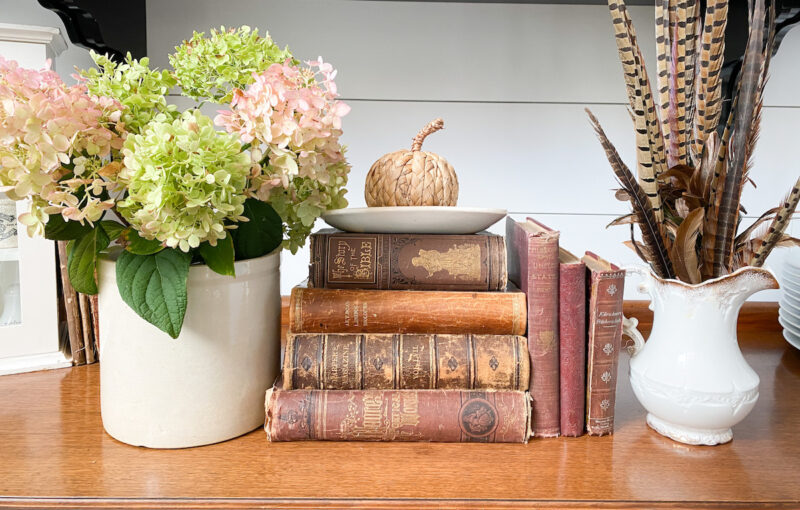
[[(0, 191), (32, 199), (31, 212), (20, 218), (29, 233), (42, 233), (49, 214), (92, 222), (113, 207), (98, 195), (114, 185), (101, 176), (113, 177), (106, 162), (124, 141), (121, 110), (83, 85), (65, 85), (49, 62), (35, 71), (0, 57)], [(59, 182), (70, 164), (74, 178)], [(89, 192), (79, 199), (81, 186)]]

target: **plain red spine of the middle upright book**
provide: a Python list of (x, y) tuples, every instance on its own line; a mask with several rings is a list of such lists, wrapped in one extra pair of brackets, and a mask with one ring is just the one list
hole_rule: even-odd
[(561, 264), (558, 280), (561, 435), (580, 436), (586, 402), (586, 266)]

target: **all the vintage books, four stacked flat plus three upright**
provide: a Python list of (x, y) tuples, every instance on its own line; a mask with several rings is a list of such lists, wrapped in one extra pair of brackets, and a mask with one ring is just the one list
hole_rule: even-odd
[(313, 234), (270, 440), (610, 434), (625, 273), (558, 241), (511, 218), (505, 239)]

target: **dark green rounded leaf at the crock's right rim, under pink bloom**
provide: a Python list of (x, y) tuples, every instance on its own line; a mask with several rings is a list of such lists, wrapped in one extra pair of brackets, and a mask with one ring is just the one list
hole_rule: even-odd
[(271, 252), (283, 241), (283, 221), (268, 203), (248, 198), (244, 213), (250, 221), (231, 230), (236, 260), (253, 259)]

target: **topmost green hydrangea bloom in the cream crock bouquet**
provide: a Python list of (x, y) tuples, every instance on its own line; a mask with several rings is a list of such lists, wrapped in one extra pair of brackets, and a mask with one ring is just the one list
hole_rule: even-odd
[(175, 50), (169, 62), (183, 95), (214, 103), (230, 102), (233, 89), (252, 83), (254, 72), (292, 58), (288, 47), (280, 49), (269, 34), (261, 37), (248, 26), (211, 29), (208, 37), (194, 32)]

